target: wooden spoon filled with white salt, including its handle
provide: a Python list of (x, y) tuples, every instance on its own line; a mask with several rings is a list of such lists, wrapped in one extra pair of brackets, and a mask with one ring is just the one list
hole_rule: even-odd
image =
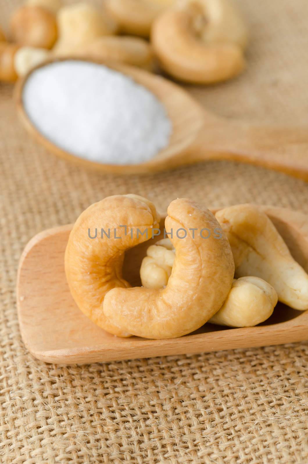
[[(49, 60), (37, 68), (64, 59)], [(101, 61), (82, 60), (102, 64)], [(27, 130), (55, 155), (85, 168), (115, 174), (149, 173), (206, 160), (232, 160), (308, 180), (308, 127), (254, 127), (245, 122), (224, 120), (204, 110), (185, 90), (163, 77), (122, 64), (104, 64), (132, 77), (159, 98), (173, 125), (169, 145), (150, 161), (137, 165), (100, 164), (67, 153), (40, 134), (24, 109), (23, 88), (37, 69), (34, 68), (16, 84), (17, 105)]]

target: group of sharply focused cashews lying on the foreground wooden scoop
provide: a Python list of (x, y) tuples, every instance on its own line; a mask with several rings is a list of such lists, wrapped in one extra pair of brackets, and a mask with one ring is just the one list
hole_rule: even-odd
[[(277, 300), (308, 309), (308, 275), (268, 216), (252, 205), (214, 216), (193, 200), (172, 201), (167, 238), (147, 248), (142, 287), (131, 287), (122, 276), (125, 251), (151, 239), (159, 221), (151, 201), (115, 195), (87, 208), (70, 233), (65, 271), (71, 294), (107, 332), (174, 338), (206, 322), (254, 326)], [(105, 232), (91, 237), (98, 227)], [(204, 230), (214, 233), (205, 239)]]

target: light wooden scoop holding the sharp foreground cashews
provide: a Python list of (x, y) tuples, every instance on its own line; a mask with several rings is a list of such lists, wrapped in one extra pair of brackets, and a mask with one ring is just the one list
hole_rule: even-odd
[[(308, 216), (283, 208), (262, 208), (293, 257), (308, 271)], [(308, 339), (308, 310), (296, 311), (282, 303), (278, 303), (267, 321), (256, 327), (229, 329), (205, 324), (193, 334), (168, 340), (110, 335), (78, 309), (70, 294), (64, 251), (71, 228), (72, 225), (67, 225), (39, 233), (20, 258), (17, 282), (20, 331), (26, 347), (38, 359), (62, 364), (88, 363)], [(124, 277), (132, 285), (141, 285), (139, 268), (148, 245), (148, 241), (144, 242), (126, 253)]]

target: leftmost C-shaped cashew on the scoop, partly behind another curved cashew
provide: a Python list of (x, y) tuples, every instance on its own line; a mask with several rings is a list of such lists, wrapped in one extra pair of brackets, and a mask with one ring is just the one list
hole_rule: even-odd
[(89, 206), (70, 233), (65, 272), (71, 294), (86, 316), (114, 335), (127, 337), (130, 333), (105, 316), (104, 298), (111, 289), (129, 287), (122, 277), (124, 252), (144, 242), (147, 235), (150, 238), (159, 220), (155, 206), (147, 199), (114, 195)]

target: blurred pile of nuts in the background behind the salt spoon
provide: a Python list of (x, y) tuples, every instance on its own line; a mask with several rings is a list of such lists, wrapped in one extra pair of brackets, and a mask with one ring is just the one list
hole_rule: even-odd
[(27, 0), (13, 12), (10, 40), (0, 31), (0, 81), (73, 56), (161, 69), (189, 83), (227, 80), (245, 66), (248, 36), (231, 2), (106, 0), (96, 8), (86, 1)]

